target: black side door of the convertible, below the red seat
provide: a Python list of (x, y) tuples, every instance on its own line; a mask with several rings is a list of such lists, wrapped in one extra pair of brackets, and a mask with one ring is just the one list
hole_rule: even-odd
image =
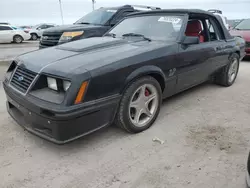
[[(215, 66), (218, 60), (217, 53), (220, 50), (217, 43), (210, 41), (207, 26), (205, 25), (205, 18), (192, 19), (189, 22), (196, 22), (196, 24), (193, 24), (195, 26), (193, 30), (196, 31), (197, 34), (191, 36), (197, 35), (200, 38), (200, 43), (179, 45), (179, 54), (176, 57), (178, 75), (177, 91), (188, 89), (206, 81), (216, 69)], [(199, 26), (199, 32), (197, 29), (198, 22), (201, 24)], [(186, 33), (187, 31), (185, 34)]]

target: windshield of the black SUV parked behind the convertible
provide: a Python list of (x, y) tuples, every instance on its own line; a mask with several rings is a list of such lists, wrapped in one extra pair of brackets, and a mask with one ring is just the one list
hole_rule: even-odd
[(104, 25), (115, 13), (115, 9), (98, 9), (85, 15), (75, 24)]

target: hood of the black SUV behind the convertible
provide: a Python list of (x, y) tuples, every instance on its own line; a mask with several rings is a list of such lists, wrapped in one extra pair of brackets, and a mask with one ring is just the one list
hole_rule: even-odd
[[(90, 30), (90, 29), (99, 29), (105, 26), (101, 25), (90, 25), (90, 24), (71, 24), (71, 25), (62, 25), (57, 27), (51, 27), (46, 29), (46, 33), (54, 33), (54, 32), (65, 32), (65, 31), (82, 31), (82, 30)], [(45, 33), (44, 32), (44, 33)]]

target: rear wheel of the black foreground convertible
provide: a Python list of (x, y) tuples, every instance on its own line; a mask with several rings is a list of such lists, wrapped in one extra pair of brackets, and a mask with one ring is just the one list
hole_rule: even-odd
[[(235, 82), (240, 65), (240, 57), (238, 54), (234, 53), (229, 58), (229, 63), (223, 67), (215, 76), (215, 83), (225, 87), (233, 85)], [(233, 70), (232, 70), (233, 69)], [(234, 73), (232, 72), (234, 71)], [(233, 76), (234, 74), (234, 76)], [(230, 76), (231, 75), (231, 76)]]

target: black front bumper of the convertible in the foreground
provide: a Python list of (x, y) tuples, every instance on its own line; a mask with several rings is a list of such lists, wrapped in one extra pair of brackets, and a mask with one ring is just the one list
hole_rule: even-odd
[(50, 112), (27, 100), (26, 96), (18, 95), (6, 84), (4, 89), (11, 117), (29, 132), (56, 144), (73, 141), (111, 124), (120, 101), (120, 96), (116, 95), (72, 111)]

